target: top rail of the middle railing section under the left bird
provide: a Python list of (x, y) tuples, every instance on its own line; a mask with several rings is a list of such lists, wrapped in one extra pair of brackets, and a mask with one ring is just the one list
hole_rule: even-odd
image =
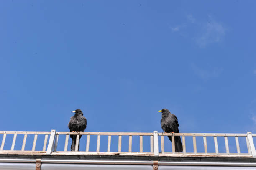
[(140, 132), (56, 132), (56, 134), (153, 136), (153, 133), (140, 133)]

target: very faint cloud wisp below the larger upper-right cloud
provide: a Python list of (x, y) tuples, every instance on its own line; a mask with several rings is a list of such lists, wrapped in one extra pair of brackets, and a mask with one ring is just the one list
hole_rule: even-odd
[(222, 69), (220, 69), (220, 68), (214, 68), (210, 71), (203, 70), (203, 69), (199, 68), (198, 66), (196, 66), (194, 63), (191, 64), (191, 68), (195, 72), (195, 74), (197, 74), (201, 79), (209, 79), (212, 77), (218, 77), (222, 72)]

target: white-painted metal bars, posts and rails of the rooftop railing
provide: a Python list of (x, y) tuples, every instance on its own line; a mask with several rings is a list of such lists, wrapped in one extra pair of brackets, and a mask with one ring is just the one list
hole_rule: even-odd
[[(13, 132), (14, 136), (13, 136), (13, 143), (12, 143), (12, 147), (11, 147), (11, 150), (5, 150), (3, 151), (3, 147), (5, 145), (5, 138), (6, 138), (6, 134), (12, 134), (11, 132)], [(56, 151), (56, 148), (57, 148), (57, 144), (58, 144), (58, 137), (59, 137), (59, 134), (63, 134), (63, 135), (66, 135), (66, 140), (65, 140), (65, 146), (64, 146), (64, 150), (63, 151), (58, 151), (58, 152), (67, 152), (67, 146), (68, 146), (68, 139), (69, 139), (69, 134), (73, 134), (73, 135), (77, 135), (79, 133), (75, 132), (75, 133), (71, 133), (71, 132), (56, 132), (55, 130), (51, 131), (51, 136), (50, 136), (50, 139), (49, 141), (47, 141), (48, 139), (48, 134), (50, 134), (50, 132), (25, 132), (25, 131), (0, 131), (0, 134), (3, 134), (3, 139), (2, 139), (2, 144), (1, 144), (1, 148), (0, 148), (0, 153), (1, 154), (4, 154), (4, 153), (17, 153), (17, 154), (22, 154), (26, 152), (26, 154), (28, 154), (27, 152), (31, 152), (31, 154), (34, 154), (35, 153), (39, 153), (41, 152), (40, 154), (45, 154), (45, 151), (46, 150), (46, 146), (47, 146), (47, 142), (48, 142), (48, 147), (47, 147), (47, 152), (46, 154), (51, 154), (51, 151)], [(81, 134), (84, 133), (84, 132), (80, 132)], [(21, 147), (21, 150), (19, 151), (14, 151), (14, 147), (15, 147), (15, 142), (16, 142), (16, 137), (17, 137), (17, 134), (25, 134), (24, 135), (24, 138), (23, 138), (23, 144), (22, 144), (22, 147)], [(25, 145), (26, 145), (26, 138), (27, 138), (27, 134), (34, 134), (35, 137), (34, 137), (34, 142), (33, 142), (33, 146), (32, 146), (32, 151), (24, 151), (25, 149)], [(42, 151), (35, 151), (35, 147), (36, 147), (36, 140), (37, 140), (37, 136), (38, 134), (45, 134), (45, 140), (44, 140), (44, 147), (43, 147), (43, 150)], [(254, 143), (253, 143), (253, 136), (256, 136), (256, 134), (251, 134), (251, 132), (248, 132), (247, 134), (202, 134), (202, 133), (175, 133), (175, 134), (171, 134), (171, 133), (157, 133), (157, 131), (154, 131), (154, 133), (117, 133), (117, 132), (86, 132), (87, 135), (87, 142), (86, 142), (86, 152), (88, 152), (87, 154), (92, 154), (92, 153), (97, 153), (97, 154), (103, 154), (104, 155), (104, 152), (100, 152), (100, 136), (101, 135), (108, 135), (108, 154), (111, 154), (111, 153), (114, 153), (114, 152), (110, 152), (110, 146), (111, 146), (111, 135), (118, 135), (118, 152), (120, 154), (123, 154), (123, 155), (147, 155), (150, 153), (154, 153), (154, 155), (159, 155), (159, 148), (158, 148), (158, 136), (161, 136), (161, 150), (162, 150), (162, 153), (161, 155), (168, 155), (170, 154), (169, 152), (164, 152), (164, 136), (172, 136), (172, 154), (175, 154), (175, 155), (189, 155), (189, 156), (192, 156), (192, 155), (202, 155), (202, 154), (206, 154), (207, 153), (207, 141), (206, 141), (206, 137), (207, 136), (213, 136), (214, 137), (214, 144), (215, 144), (215, 154), (218, 154), (218, 155), (226, 155), (228, 156), (228, 154), (230, 155), (233, 155), (233, 153), (230, 153), (229, 152), (229, 145), (228, 145), (228, 136), (233, 136), (235, 137), (235, 140), (236, 140), (236, 148), (237, 148), (237, 154), (240, 155), (241, 157), (245, 156), (245, 157), (248, 157), (249, 155), (247, 154), (241, 154), (240, 152), (240, 146), (239, 146), (239, 142), (238, 142), (238, 137), (246, 137), (246, 144), (247, 144), (247, 147), (248, 147), (248, 152), (250, 153), (250, 155), (252, 155), (253, 157), (256, 157), (256, 151), (255, 151), (255, 147), (254, 147)], [(182, 136), (182, 145), (183, 145), (183, 153), (177, 153), (177, 152), (174, 152), (175, 151), (175, 142), (174, 142), (174, 136)], [(97, 140), (97, 148), (96, 148), (96, 152), (89, 152), (89, 144), (90, 144), (90, 135), (98, 135), (98, 140)], [(121, 144), (122, 144), (122, 136), (123, 135), (128, 135), (129, 136), (129, 149), (128, 149), (128, 152), (122, 152), (121, 151)], [(132, 152), (132, 136), (134, 135), (137, 135), (137, 136), (140, 136), (140, 142), (139, 142), (139, 151), (140, 152)], [(193, 147), (194, 147), (194, 153), (187, 153), (186, 152), (186, 143), (185, 143), (185, 137), (186, 136), (192, 136), (193, 137)], [(150, 152), (143, 152), (143, 136), (150, 136)], [(204, 153), (197, 153), (197, 145), (196, 145), (196, 136), (201, 136), (203, 137), (203, 140), (204, 140), (204, 147), (205, 147), (205, 152)], [(218, 151), (218, 142), (217, 142), (217, 137), (218, 136), (223, 136), (224, 139), (225, 139), (225, 148), (226, 148), (226, 153), (219, 153)], [(79, 137), (79, 136), (77, 136)], [(79, 140), (79, 138), (78, 138)], [(78, 143), (76, 143), (76, 148), (78, 148)], [(220, 147), (223, 147), (223, 146), (220, 146)], [(233, 146), (232, 146), (233, 147)], [(23, 151), (23, 152), (21, 152)], [(33, 153), (32, 153), (33, 152)], [(63, 154), (63, 153), (62, 153)], [(67, 152), (68, 154), (68, 152)], [(213, 153), (207, 153), (207, 155), (213, 155)]]

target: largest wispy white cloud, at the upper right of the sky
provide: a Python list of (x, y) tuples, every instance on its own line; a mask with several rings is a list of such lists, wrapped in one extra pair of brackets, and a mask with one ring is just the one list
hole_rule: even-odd
[(202, 35), (196, 38), (197, 44), (201, 47), (211, 43), (218, 43), (225, 36), (226, 29), (222, 24), (215, 21), (207, 23), (203, 28)]

